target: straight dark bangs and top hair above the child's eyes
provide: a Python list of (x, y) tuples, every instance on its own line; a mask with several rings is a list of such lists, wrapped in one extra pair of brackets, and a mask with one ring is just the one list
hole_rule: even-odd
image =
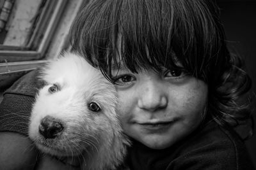
[(91, 1), (70, 30), (72, 50), (109, 77), (122, 62), (133, 73), (182, 67), (205, 80), (211, 60), (223, 58), (214, 8), (202, 0)]

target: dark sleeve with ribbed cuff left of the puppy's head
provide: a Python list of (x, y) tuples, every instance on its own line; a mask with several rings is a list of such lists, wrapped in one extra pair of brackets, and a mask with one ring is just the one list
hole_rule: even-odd
[(28, 136), (28, 123), (35, 94), (43, 86), (37, 75), (38, 70), (29, 72), (4, 92), (0, 104), (0, 131), (18, 132)]

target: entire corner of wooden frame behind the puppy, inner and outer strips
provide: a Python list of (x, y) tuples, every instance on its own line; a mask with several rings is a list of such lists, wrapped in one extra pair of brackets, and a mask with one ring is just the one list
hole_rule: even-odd
[[(0, 101), (1, 92), (12, 85), (20, 76), (44, 65), (48, 59), (56, 58), (62, 50), (68, 50), (69, 27), (77, 12), (89, 0), (54, 1), (55, 5), (51, 6), (54, 12), (51, 15), (47, 14), (46, 11), (41, 14), (44, 17), (50, 15), (51, 20), (45, 21), (43, 20), (44, 17), (40, 18), (42, 22), (38, 22), (34, 30), (34, 32), (39, 33), (31, 37), (28, 46), (0, 45), (0, 60), (2, 60), (0, 62)], [(43, 28), (44, 25), (47, 27)], [(42, 33), (43, 38), (40, 36)], [(36, 45), (39, 40), (40, 43)]]

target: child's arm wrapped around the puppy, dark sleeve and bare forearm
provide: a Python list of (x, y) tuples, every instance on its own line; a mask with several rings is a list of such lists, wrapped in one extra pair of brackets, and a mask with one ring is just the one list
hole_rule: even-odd
[[(38, 159), (38, 150), (28, 138), (28, 123), (36, 89), (42, 83), (36, 79), (37, 71), (20, 78), (4, 92), (0, 104), (0, 169), (70, 169), (69, 165), (50, 156)], [(47, 165), (47, 166), (46, 166)], [(76, 169), (76, 167), (74, 167)]]

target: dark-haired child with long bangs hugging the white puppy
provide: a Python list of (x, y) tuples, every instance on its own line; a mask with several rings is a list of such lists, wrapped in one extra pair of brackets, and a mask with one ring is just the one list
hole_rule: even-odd
[(70, 38), (115, 83), (130, 169), (253, 169), (243, 143), (251, 80), (227, 49), (214, 1), (90, 1)]

